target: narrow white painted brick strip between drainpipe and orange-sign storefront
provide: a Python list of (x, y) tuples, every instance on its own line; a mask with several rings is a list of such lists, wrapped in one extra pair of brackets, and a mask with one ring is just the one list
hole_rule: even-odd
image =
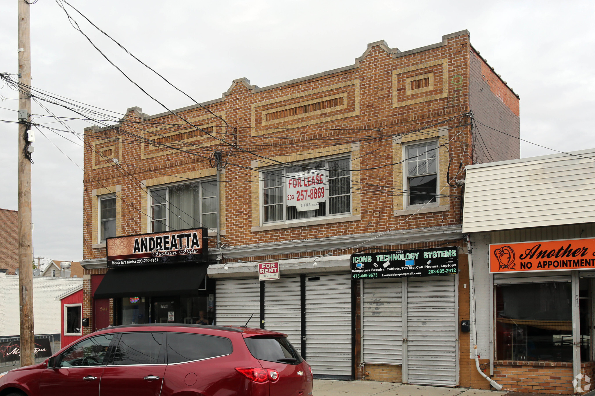
[[(475, 325), (481, 359), (490, 358), (490, 267), (488, 265), (489, 233), (471, 234), (471, 255), (475, 280)], [(472, 297), (472, 296), (471, 296)], [(475, 359), (471, 346), (471, 359)]]

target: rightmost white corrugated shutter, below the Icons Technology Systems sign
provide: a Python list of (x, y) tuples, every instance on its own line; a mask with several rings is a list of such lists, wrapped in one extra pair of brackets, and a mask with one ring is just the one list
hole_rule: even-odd
[(456, 386), (455, 277), (409, 278), (409, 384)]

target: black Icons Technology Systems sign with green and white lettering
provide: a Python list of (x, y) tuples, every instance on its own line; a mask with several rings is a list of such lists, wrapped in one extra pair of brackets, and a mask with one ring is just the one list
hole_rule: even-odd
[(359, 253), (350, 257), (352, 278), (450, 275), (459, 272), (458, 248)]

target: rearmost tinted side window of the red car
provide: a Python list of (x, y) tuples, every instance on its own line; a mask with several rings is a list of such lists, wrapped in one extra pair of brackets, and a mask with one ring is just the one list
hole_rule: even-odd
[(229, 338), (185, 332), (167, 333), (167, 363), (225, 356), (232, 350)]

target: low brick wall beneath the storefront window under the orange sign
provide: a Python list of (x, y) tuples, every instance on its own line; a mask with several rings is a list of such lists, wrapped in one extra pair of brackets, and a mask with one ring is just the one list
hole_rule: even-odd
[(512, 362), (494, 364), (494, 380), (516, 392), (572, 395), (572, 363)]

